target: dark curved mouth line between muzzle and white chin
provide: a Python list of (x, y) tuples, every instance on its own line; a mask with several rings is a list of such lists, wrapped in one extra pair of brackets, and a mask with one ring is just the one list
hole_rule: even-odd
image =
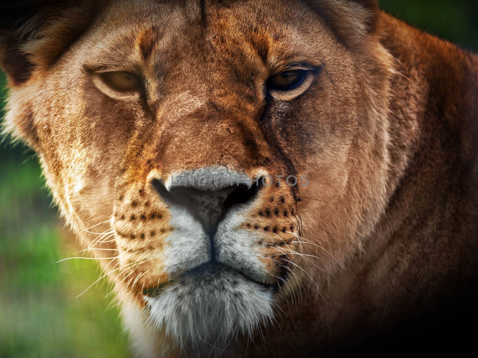
[(250, 278), (249, 276), (243, 274), (242, 272), (228, 266), (228, 265), (225, 265), (225, 264), (222, 264), (222, 263), (217, 263), (217, 262), (214, 262), (214, 261), (208, 261), (206, 263), (202, 263), (192, 269), (189, 269), (181, 274), (178, 274), (172, 278), (170, 278), (169, 280), (167, 281), (164, 281), (160, 284), (157, 284), (155, 286), (150, 286), (150, 287), (146, 287), (143, 289), (143, 295), (147, 296), (147, 297), (150, 297), (150, 298), (153, 298), (153, 297), (157, 297), (158, 295), (160, 295), (163, 290), (168, 287), (169, 285), (171, 284), (174, 284), (178, 281), (181, 281), (185, 278), (191, 278), (191, 277), (194, 277), (195, 275), (199, 275), (201, 273), (204, 273), (205, 271), (209, 271), (211, 272), (211, 274), (220, 274), (222, 270), (224, 269), (227, 269), (229, 271), (232, 271), (234, 272), (235, 274), (239, 274), (241, 277), (245, 278), (246, 280), (254, 283), (254, 284), (258, 284), (266, 289), (270, 289), (273, 284), (264, 284), (264, 283), (261, 283), (259, 281), (256, 281), (252, 278)]

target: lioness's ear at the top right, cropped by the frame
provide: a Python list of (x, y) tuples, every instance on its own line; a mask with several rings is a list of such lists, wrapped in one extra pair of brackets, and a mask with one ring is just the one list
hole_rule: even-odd
[(307, 1), (332, 27), (347, 46), (360, 44), (377, 30), (378, 0), (309, 0)]

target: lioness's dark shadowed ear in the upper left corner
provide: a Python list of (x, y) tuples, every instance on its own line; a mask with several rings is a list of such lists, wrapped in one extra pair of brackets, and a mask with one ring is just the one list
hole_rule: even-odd
[(98, 13), (99, 1), (19, 0), (0, 6), (0, 65), (9, 85), (47, 68)]

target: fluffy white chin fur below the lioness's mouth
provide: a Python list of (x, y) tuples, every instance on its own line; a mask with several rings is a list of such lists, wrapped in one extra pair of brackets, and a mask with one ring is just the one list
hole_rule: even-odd
[(158, 296), (144, 299), (154, 325), (181, 346), (226, 344), (238, 333), (250, 336), (273, 317), (271, 290), (227, 269), (175, 280)]

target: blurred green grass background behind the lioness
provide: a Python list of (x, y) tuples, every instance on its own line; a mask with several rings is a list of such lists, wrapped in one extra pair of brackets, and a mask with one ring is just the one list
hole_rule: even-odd
[[(478, 51), (477, 0), (381, 0), (380, 7)], [(0, 98), (4, 86), (0, 73)], [(31, 151), (0, 147), (0, 358), (129, 356), (118, 310), (105, 298), (111, 287), (97, 284), (75, 298), (99, 277), (97, 264), (56, 263), (80, 248), (43, 187)]]

